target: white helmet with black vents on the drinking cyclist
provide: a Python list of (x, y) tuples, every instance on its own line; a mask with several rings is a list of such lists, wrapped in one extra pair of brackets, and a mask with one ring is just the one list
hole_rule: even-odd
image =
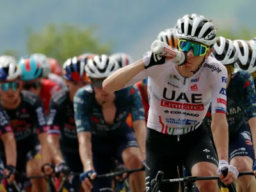
[(202, 17), (186, 17), (179, 23), (176, 31), (179, 39), (193, 40), (211, 46), (216, 43), (214, 24)]

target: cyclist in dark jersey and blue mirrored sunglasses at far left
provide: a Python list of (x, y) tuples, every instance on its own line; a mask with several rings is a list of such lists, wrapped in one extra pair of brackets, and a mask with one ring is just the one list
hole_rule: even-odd
[[(0, 70), (1, 77), (6, 77), (7, 80), (1, 83), (1, 105), (8, 115), (17, 142), (17, 170), (26, 172), (29, 176), (40, 175), (41, 164), (49, 163), (44, 106), (40, 97), (21, 91), (21, 73), (17, 68), (17, 65), (6, 63)], [(17, 77), (8, 81), (8, 76), (13, 72), (17, 73)], [(1, 160), (6, 164), (2, 142), (0, 150)], [(46, 190), (44, 179), (32, 179), (31, 183), (32, 190)]]

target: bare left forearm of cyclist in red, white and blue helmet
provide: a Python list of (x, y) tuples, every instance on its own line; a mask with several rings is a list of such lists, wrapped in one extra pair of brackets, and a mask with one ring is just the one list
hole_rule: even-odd
[(60, 164), (64, 161), (63, 156), (60, 150), (60, 136), (57, 135), (48, 135), (47, 141), (51, 149), (51, 156), (54, 159), (55, 164)]

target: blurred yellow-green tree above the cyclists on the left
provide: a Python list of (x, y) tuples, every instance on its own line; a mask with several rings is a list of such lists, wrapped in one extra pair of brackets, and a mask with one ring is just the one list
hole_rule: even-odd
[(102, 43), (95, 35), (97, 28), (70, 24), (48, 24), (42, 31), (28, 30), (27, 49), (30, 54), (42, 52), (61, 63), (84, 52), (109, 54), (113, 42)]

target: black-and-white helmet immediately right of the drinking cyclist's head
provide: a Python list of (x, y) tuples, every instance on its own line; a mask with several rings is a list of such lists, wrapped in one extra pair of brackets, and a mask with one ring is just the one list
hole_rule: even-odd
[(236, 63), (238, 51), (232, 40), (219, 36), (213, 48), (212, 55), (223, 65), (232, 65)]

